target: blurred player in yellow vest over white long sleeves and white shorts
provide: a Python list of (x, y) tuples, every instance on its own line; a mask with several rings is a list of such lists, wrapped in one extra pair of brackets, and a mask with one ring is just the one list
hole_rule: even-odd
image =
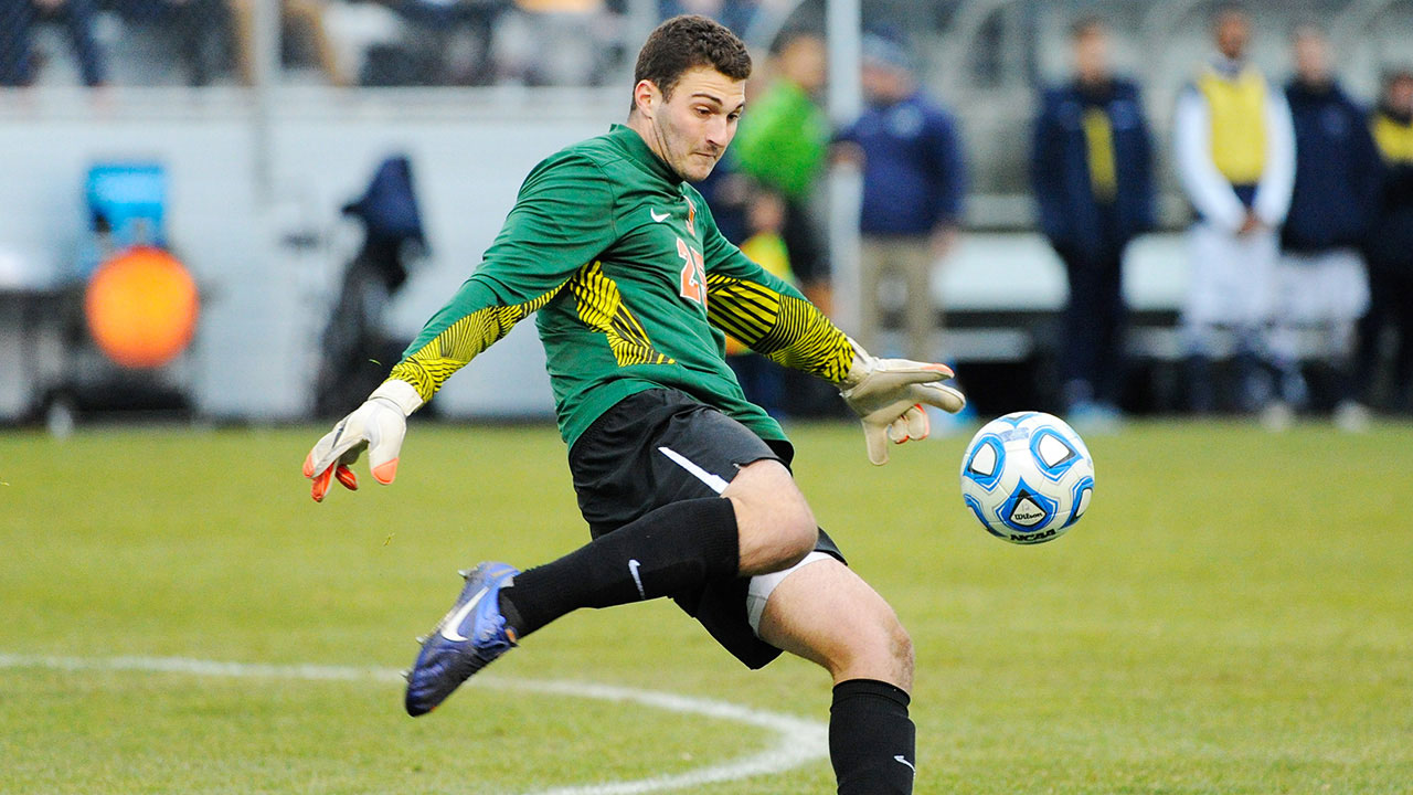
[[(1181, 311), (1188, 405), (1200, 413), (1259, 412), (1272, 393), (1267, 332), (1277, 231), (1294, 185), (1294, 130), (1283, 93), (1246, 61), (1251, 16), (1222, 6), (1212, 34), (1217, 57), (1181, 92), (1173, 116), (1177, 175), (1197, 212)], [(1212, 361), (1228, 355), (1235, 389), (1218, 400)]]

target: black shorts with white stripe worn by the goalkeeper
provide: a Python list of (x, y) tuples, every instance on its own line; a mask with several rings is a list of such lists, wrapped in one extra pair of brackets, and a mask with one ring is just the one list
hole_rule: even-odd
[[(670, 502), (716, 494), (660, 447), (726, 482), (753, 461), (769, 458), (788, 467), (794, 455), (790, 443), (767, 443), (746, 426), (675, 389), (630, 395), (596, 419), (569, 451), (574, 491), (593, 538)], [(815, 549), (844, 560), (824, 530), (820, 530)], [(746, 618), (749, 584), (750, 577), (723, 577), (692, 593), (677, 594), (673, 601), (736, 659), (762, 668), (780, 656), (780, 649), (757, 638), (750, 628)]]

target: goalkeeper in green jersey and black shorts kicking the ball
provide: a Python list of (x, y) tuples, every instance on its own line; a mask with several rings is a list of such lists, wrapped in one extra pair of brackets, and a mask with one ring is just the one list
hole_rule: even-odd
[(333, 480), (355, 488), (349, 464), (367, 448), (391, 482), (406, 417), (534, 314), (592, 540), (524, 571), (463, 573), (408, 672), (407, 712), (574, 610), (671, 597), (747, 666), (788, 651), (828, 669), (841, 794), (911, 792), (907, 632), (815, 525), (793, 448), (742, 395), (723, 338), (838, 385), (875, 464), (890, 440), (927, 436), (923, 405), (964, 399), (942, 365), (870, 356), (716, 229), (690, 182), (731, 143), (749, 74), (740, 40), (705, 17), (654, 30), (627, 123), (530, 173), (480, 267), (304, 474), (319, 501)]

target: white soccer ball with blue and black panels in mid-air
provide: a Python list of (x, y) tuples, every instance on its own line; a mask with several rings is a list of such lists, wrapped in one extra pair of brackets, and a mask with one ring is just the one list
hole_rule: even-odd
[(996, 417), (962, 455), (962, 501), (986, 532), (1010, 543), (1060, 538), (1092, 495), (1089, 448), (1064, 420), (1043, 412)]

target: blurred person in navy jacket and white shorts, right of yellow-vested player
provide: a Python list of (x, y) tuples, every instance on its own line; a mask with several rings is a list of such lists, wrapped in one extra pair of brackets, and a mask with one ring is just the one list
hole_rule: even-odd
[(1276, 266), (1272, 358), (1280, 369), (1266, 414), (1270, 427), (1289, 424), (1308, 402), (1301, 359), (1325, 364), (1335, 373), (1337, 398), (1349, 396), (1354, 328), (1369, 304), (1359, 245), (1379, 188), (1379, 154), (1365, 110), (1334, 78), (1324, 31), (1300, 25), (1291, 52), (1296, 74), (1286, 102), (1296, 130), (1296, 185)]

